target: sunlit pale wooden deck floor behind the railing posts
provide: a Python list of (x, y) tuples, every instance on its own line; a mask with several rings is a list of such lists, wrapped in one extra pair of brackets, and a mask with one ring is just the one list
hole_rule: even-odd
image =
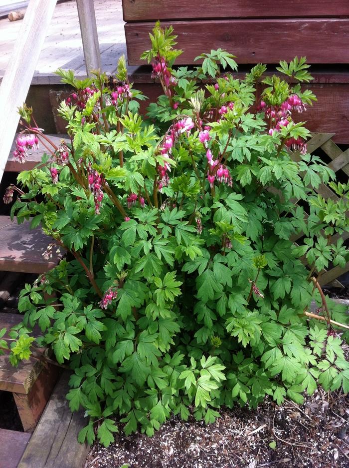
[[(121, 0), (94, 0), (103, 71), (113, 73), (126, 53)], [(11, 57), (22, 21), (0, 20), (0, 78)], [(28, 57), (29, 59), (29, 57)], [(79, 18), (75, 0), (58, 3), (42, 47), (31, 84), (58, 84), (57, 68), (74, 69), (86, 76)]]

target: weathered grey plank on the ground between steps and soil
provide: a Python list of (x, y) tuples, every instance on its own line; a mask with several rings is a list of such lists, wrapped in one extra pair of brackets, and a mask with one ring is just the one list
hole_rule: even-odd
[(18, 468), (81, 468), (89, 447), (77, 435), (87, 424), (83, 411), (71, 413), (65, 395), (69, 390), (65, 372), (31, 436)]

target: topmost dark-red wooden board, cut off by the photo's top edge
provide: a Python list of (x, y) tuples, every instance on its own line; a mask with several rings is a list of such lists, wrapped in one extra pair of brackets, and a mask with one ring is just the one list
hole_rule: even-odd
[(348, 16), (346, 0), (123, 0), (125, 21), (238, 17)]

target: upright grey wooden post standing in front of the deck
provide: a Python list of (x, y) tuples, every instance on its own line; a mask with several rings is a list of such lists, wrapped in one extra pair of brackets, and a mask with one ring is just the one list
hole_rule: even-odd
[(79, 13), (86, 72), (90, 76), (92, 70), (101, 69), (95, 8), (93, 0), (76, 0), (76, 4)]

